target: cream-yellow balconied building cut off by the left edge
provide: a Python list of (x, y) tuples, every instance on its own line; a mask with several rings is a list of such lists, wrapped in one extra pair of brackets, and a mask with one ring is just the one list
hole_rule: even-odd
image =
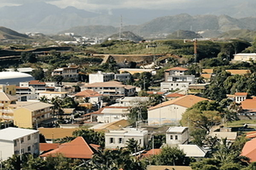
[(13, 119), (13, 112), (9, 105), (15, 104), (18, 99), (14, 96), (0, 92), (0, 122)]

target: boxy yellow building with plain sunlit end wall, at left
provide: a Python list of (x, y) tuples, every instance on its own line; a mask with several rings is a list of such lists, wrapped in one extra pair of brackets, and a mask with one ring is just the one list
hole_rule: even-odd
[(52, 118), (53, 105), (44, 102), (16, 102), (13, 108), (13, 122), (18, 127), (48, 127), (56, 119)]

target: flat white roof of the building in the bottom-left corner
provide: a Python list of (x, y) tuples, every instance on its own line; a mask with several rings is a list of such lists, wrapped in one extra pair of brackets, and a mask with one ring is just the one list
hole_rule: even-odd
[(0, 140), (13, 141), (15, 139), (27, 136), (32, 133), (39, 132), (39, 130), (22, 129), (17, 127), (8, 127), (0, 130)]

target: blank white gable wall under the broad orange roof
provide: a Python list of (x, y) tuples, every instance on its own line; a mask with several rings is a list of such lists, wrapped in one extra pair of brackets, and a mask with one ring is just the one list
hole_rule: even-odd
[(168, 105), (148, 111), (148, 125), (177, 124), (187, 108)]

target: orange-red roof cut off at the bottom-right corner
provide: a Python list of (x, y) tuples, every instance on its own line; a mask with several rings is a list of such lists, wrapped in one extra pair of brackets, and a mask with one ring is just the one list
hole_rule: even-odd
[(256, 138), (244, 144), (241, 156), (246, 156), (250, 159), (250, 162), (256, 161)]

